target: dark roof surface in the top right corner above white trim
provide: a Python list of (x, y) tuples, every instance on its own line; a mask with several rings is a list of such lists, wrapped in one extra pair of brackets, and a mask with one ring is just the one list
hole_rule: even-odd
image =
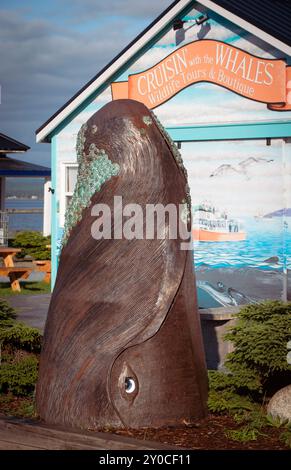
[(291, 46), (290, 0), (214, 0), (263, 31)]

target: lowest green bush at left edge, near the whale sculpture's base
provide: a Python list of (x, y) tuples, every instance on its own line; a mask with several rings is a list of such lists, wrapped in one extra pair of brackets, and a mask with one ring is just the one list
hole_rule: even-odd
[(1, 364), (0, 392), (27, 396), (34, 391), (37, 380), (38, 359), (28, 356), (16, 363)]

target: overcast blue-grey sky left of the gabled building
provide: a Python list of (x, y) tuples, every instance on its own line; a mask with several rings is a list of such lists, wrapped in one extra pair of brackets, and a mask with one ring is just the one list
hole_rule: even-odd
[(50, 166), (35, 130), (172, 0), (1, 0), (0, 132)]

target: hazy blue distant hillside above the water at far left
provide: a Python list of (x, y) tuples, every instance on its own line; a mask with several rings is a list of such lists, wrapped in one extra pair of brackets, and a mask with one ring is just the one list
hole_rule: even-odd
[(6, 197), (31, 197), (43, 198), (43, 178), (7, 178)]

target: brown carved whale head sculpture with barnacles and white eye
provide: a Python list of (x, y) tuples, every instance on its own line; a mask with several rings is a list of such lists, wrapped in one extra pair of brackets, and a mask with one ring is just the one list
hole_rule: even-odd
[[(149, 204), (181, 205), (176, 222), (191, 236), (180, 154), (143, 104), (117, 100), (82, 126), (77, 158), (45, 326), (38, 413), (47, 423), (83, 429), (202, 418), (207, 373), (192, 251), (181, 249), (180, 231), (170, 236), (167, 216), (162, 236), (156, 223), (146, 237)], [(137, 222), (143, 234), (126, 235)]]

